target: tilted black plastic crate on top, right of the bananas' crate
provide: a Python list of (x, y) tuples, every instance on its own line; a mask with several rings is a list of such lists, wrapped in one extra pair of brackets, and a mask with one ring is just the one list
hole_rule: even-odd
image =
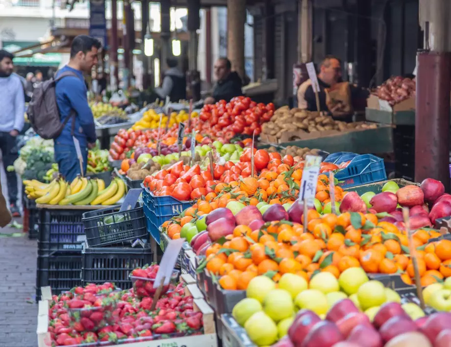
[(83, 224), (89, 247), (113, 245), (149, 237), (142, 207), (124, 212), (119, 212), (117, 207), (85, 212)]

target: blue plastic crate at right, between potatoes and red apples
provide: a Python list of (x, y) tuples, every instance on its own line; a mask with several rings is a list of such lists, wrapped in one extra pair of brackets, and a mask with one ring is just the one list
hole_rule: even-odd
[[(348, 154), (342, 157), (349, 157)], [(338, 164), (343, 161), (339, 159)], [(335, 173), (335, 178), (341, 181), (340, 186), (343, 188), (355, 187), (362, 184), (384, 181), (387, 179), (385, 172), (384, 160), (373, 154), (356, 155), (351, 159), (348, 167), (341, 169)]]

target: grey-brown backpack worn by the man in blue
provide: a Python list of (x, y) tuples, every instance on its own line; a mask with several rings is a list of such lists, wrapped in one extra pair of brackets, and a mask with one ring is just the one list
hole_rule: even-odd
[(58, 105), (56, 104), (56, 82), (67, 76), (79, 78), (75, 73), (67, 71), (56, 78), (50, 78), (45, 82), (39, 83), (33, 91), (31, 101), (28, 103), (28, 109), (26, 110), (28, 120), (34, 131), (43, 139), (56, 139), (71, 117), (72, 135), (74, 135), (75, 110), (61, 122)]

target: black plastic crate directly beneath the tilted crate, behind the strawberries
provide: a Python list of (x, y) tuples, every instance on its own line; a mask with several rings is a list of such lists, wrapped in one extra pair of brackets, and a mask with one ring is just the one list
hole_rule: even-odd
[(128, 289), (132, 283), (128, 275), (133, 269), (153, 261), (150, 246), (87, 247), (82, 251), (81, 283), (112, 282), (119, 288)]

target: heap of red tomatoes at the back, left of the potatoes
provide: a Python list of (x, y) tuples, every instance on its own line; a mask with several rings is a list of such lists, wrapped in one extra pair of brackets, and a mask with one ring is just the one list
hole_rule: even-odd
[(261, 132), (261, 124), (269, 122), (274, 114), (274, 104), (256, 103), (251, 98), (236, 97), (227, 102), (220, 100), (205, 105), (200, 111), (196, 130), (210, 131), (212, 137), (230, 140), (236, 134), (255, 135)]

